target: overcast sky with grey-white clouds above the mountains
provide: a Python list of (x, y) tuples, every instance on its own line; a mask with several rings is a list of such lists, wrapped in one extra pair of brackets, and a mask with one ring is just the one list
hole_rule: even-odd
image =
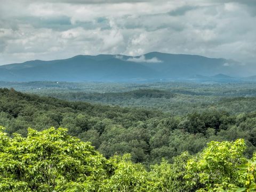
[(0, 65), (153, 51), (254, 63), (256, 1), (0, 0)]

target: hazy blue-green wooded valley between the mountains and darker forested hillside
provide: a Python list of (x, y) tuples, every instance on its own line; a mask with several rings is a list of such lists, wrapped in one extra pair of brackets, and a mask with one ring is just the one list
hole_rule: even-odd
[(140, 107), (186, 115), (214, 108), (229, 114), (256, 110), (255, 83), (67, 83), (67, 82), (0, 82), (0, 87), (13, 87), (22, 92), (70, 100)]

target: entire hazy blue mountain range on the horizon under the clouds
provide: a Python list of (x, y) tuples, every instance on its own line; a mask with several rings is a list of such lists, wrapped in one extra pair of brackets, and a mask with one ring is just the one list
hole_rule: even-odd
[(111, 54), (77, 55), (69, 59), (34, 60), (2, 65), (0, 81), (255, 81), (256, 76), (241, 78), (247, 70), (234, 60), (200, 55), (160, 52), (137, 57)]

